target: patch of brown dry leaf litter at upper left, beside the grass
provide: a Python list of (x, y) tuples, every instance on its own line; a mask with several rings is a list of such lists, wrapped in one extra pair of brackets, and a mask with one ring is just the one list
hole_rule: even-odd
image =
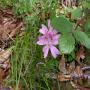
[(11, 7), (0, 10), (0, 48), (5, 48), (23, 29), (25, 30), (24, 23), (13, 16)]

